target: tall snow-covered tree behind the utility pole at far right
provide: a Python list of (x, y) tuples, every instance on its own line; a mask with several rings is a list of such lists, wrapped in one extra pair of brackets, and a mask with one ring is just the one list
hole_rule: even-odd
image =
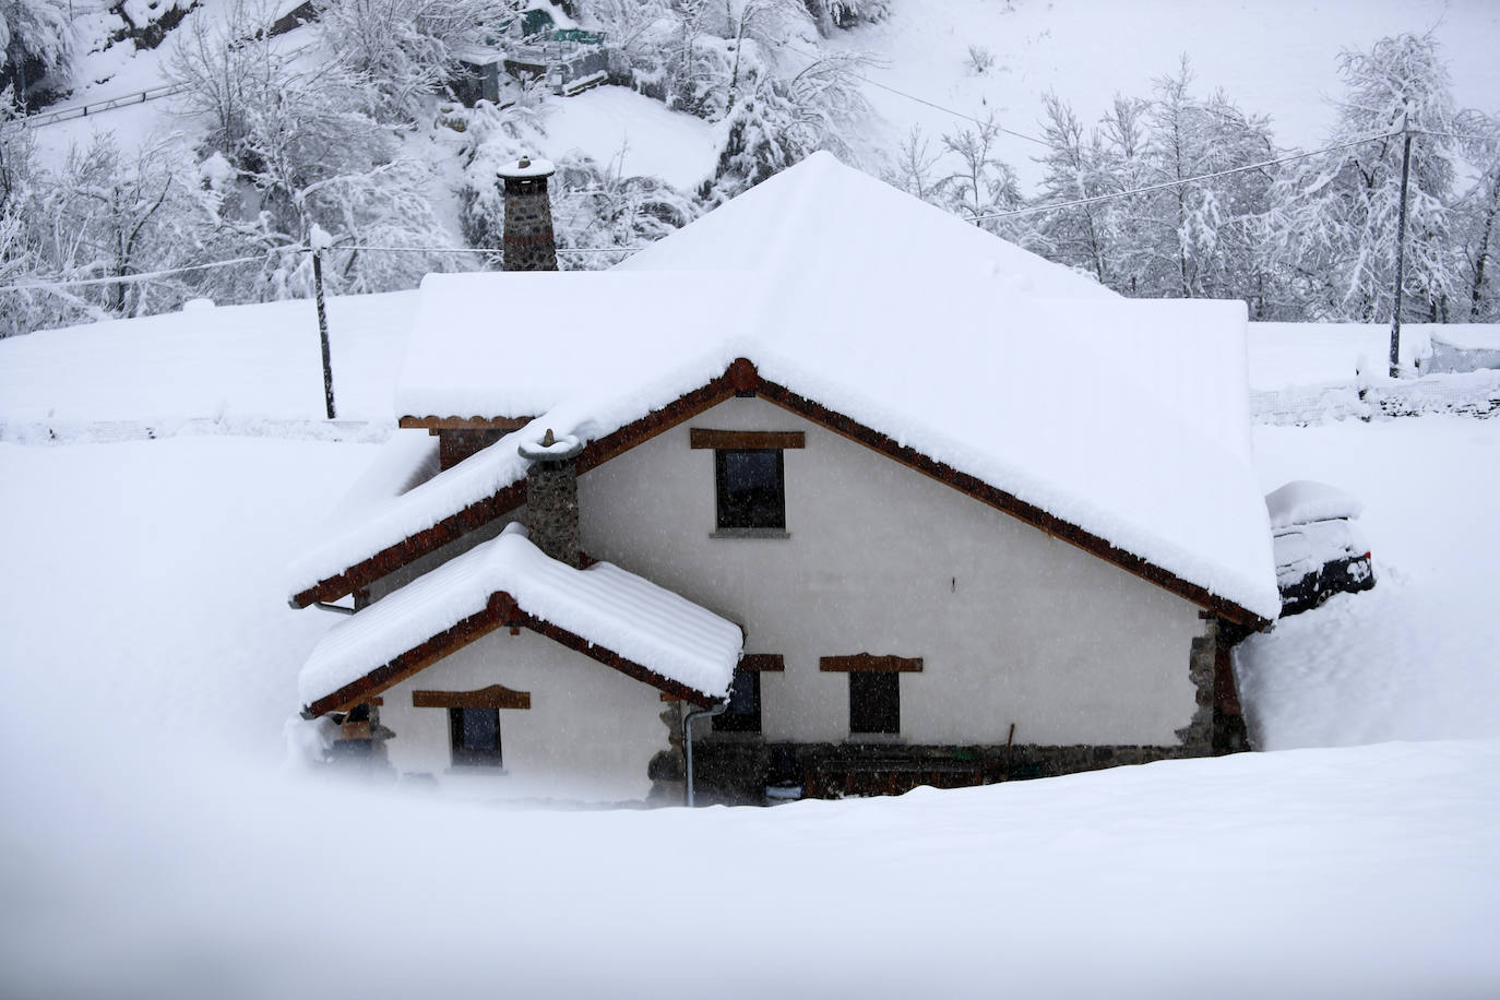
[(1456, 135), (1467, 123), (1449, 94), (1431, 34), (1400, 34), (1341, 57), (1344, 97), (1329, 145), (1276, 186), (1275, 262), (1294, 276), (1311, 316), (1390, 318), (1401, 202), (1402, 127), (1413, 132), (1407, 195), (1404, 315), (1440, 319), (1464, 289), (1449, 252), (1448, 202)]

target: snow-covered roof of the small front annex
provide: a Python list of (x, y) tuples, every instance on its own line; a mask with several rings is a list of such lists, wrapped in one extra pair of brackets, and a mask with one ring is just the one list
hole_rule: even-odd
[(738, 625), (614, 564), (574, 570), (550, 559), (512, 523), (330, 628), (298, 676), (303, 705), (478, 615), (496, 592), (668, 681), (706, 697), (729, 693), (744, 645)]

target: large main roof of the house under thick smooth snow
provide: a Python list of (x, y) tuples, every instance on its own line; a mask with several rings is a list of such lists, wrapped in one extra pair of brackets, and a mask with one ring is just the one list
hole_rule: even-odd
[(429, 276), (398, 409), (538, 420), (330, 537), (294, 588), (519, 481), (543, 426), (597, 441), (744, 357), (1275, 618), (1244, 304), (1120, 298), (825, 154), (628, 261), (651, 262), (681, 270)]

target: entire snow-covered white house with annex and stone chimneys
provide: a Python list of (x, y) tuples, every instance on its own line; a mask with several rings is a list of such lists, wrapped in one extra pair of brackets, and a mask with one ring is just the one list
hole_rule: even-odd
[(429, 276), (396, 403), (294, 570), (358, 607), (303, 714), (496, 795), (1208, 754), (1280, 609), (1244, 306), (1124, 300), (828, 154), (610, 271)]

